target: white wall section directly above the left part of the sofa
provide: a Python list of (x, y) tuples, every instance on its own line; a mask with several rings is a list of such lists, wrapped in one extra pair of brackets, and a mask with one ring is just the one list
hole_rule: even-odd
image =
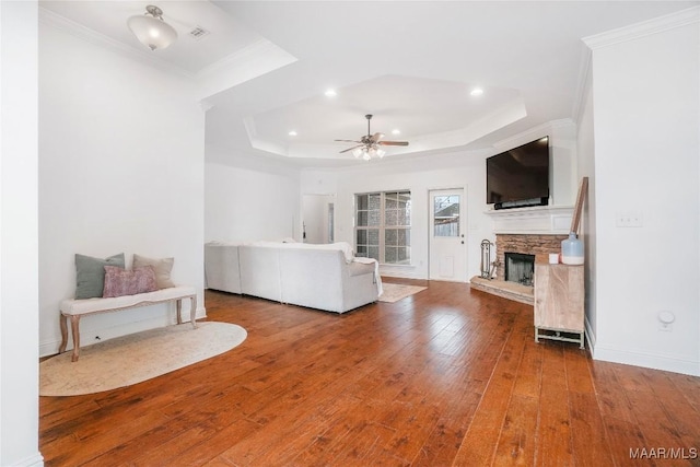
[[(209, 157), (209, 151), (217, 150), (207, 151)], [(301, 242), (299, 171), (242, 168), (208, 162), (205, 172), (207, 242), (284, 237)]]

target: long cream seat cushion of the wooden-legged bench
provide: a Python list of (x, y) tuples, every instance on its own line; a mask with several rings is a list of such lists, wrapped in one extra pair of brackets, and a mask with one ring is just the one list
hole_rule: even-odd
[(60, 311), (63, 315), (84, 315), (88, 313), (108, 312), (122, 308), (131, 308), (151, 303), (166, 302), (196, 295), (194, 287), (172, 287), (156, 290), (155, 292), (138, 293), (136, 295), (122, 295), (109, 299), (69, 299), (61, 302)]

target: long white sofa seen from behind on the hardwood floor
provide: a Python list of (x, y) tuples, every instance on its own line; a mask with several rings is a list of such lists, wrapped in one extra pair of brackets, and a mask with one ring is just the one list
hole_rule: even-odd
[(207, 288), (345, 313), (375, 302), (374, 260), (352, 258), (347, 244), (255, 242), (205, 245)]

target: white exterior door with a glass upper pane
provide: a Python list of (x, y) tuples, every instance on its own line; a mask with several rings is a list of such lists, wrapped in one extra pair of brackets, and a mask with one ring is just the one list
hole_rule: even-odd
[(430, 279), (467, 281), (464, 189), (430, 191)]

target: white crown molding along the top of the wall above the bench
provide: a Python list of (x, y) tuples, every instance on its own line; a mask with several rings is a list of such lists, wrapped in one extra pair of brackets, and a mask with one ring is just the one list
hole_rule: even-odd
[(74, 37), (78, 37), (79, 39), (82, 39), (86, 43), (96, 45), (98, 47), (104, 47), (109, 51), (127, 56), (142, 63), (156, 67), (166, 72), (175, 73), (187, 79), (194, 79), (192, 73), (186, 71), (183, 68), (176, 67), (159, 57), (155, 57), (152, 54), (137, 50), (133, 47), (107, 37), (104, 34), (100, 34), (96, 31), (91, 30), (90, 27), (85, 27), (80, 23), (71, 21), (50, 10), (47, 10), (46, 8), (39, 7), (38, 10), (38, 20), (40, 25), (52, 27), (62, 33), (67, 33)]

